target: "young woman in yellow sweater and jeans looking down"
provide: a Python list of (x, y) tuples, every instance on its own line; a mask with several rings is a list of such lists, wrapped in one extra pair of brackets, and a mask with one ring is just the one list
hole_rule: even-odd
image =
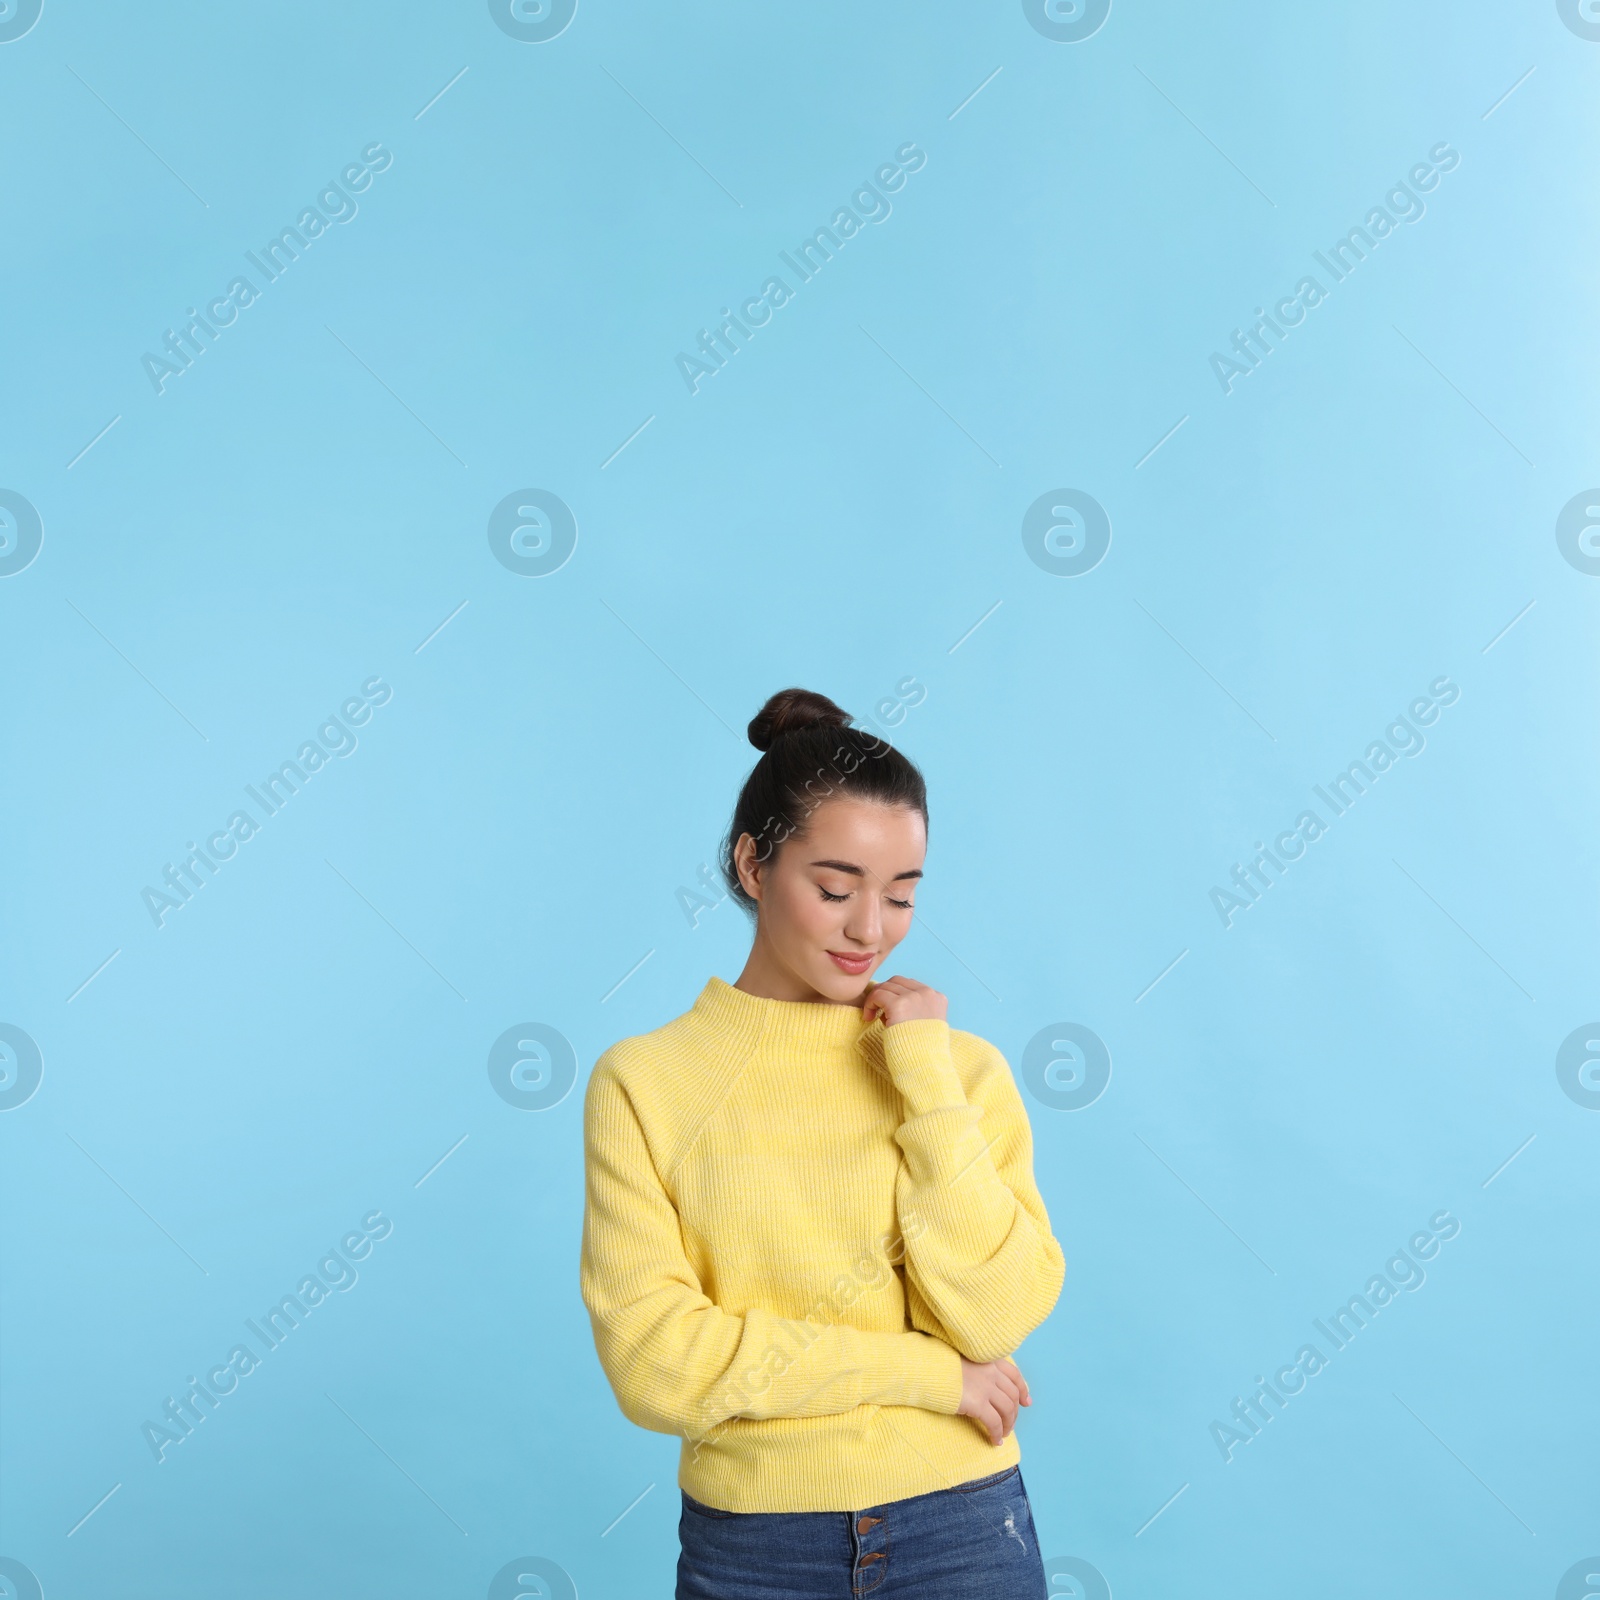
[(683, 1438), (677, 1600), (1043, 1600), (1010, 1355), (1066, 1261), (1005, 1058), (875, 981), (928, 803), (821, 694), (750, 722), (738, 982), (584, 1099), (581, 1290), (622, 1413)]

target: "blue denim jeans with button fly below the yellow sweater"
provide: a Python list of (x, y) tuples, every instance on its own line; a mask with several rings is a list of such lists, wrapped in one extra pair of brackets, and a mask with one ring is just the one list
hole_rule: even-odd
[(861, 1510), (715, 1510), (678, 1493), (675, 1600), (1045, 1600), (1021, 1467)]

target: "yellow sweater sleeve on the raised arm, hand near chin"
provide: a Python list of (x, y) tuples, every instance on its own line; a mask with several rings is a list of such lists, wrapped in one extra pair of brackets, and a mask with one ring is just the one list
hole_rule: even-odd
[(971, 1362), (1013, 1350), (1051, 1312), (1066, 1258), (1034, 1184), (1034, 1136), (1005, 1056), (986, 1040), (971, 1101), (936, 1018), (883, 1030), (904, 1102), (894, 1200), (906, 1277)]

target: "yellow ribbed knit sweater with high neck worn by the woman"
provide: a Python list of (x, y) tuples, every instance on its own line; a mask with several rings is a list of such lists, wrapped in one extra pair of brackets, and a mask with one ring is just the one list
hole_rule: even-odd
[(960, 1355), (1011, 1355), (1066, 1275), (994, 1045), (712, 978), (595, 1062), (584, 1166), (595, 1350), (694, 1499), (856, 1510), (1021, 1459), (957, 1414)]

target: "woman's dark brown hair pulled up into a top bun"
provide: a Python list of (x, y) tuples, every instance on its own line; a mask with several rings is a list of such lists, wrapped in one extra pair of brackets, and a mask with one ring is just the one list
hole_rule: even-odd
[(747, 733), (762, 758), (744, 779), (722, 842), (723, 882), (747, 912), (755, 912), (755, 901), (733, 862), (742, 834), (755, 840), (757, 861), (771, 861), (832, 795), (910, 806), (926, 829), (928, 786), (922, 773), (886, 739), (854, 726), (826, 694), (779, 690), (750, 718)]

